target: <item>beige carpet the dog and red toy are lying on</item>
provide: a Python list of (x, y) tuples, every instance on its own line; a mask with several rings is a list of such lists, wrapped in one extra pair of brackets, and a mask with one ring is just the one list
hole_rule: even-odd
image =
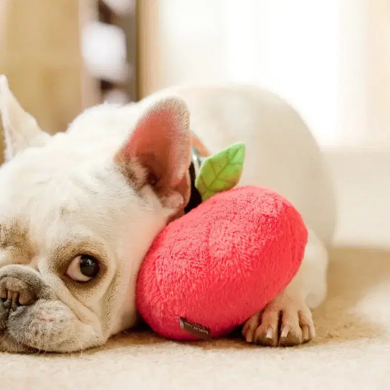
[(334, 250), (329, 289), (302, 347), (120, 335), (82, 355), (0, 354), (0, 389), (390, 389), (390, 252)]

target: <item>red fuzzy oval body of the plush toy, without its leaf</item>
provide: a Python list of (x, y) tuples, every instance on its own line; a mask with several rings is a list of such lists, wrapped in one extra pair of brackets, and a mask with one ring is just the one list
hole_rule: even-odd
[(179, 317), (227, 334), (291, 281), (306, 240), (302, 217), (281, 195), (260, 187), (217, 194), (154, 240), (138, 275), (138, 310), (167, 338), (196, 339)]

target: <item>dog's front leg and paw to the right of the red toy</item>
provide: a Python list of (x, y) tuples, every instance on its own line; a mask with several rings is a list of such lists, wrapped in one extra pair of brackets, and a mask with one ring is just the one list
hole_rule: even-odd
[(308, 229), (301, 267), (284, 291), (254, 314), (242, 333), (248, 343), (264, 346), (295, 346), (315, 337), (310, 309), (326, 296), (328, 255), (316, 234)]

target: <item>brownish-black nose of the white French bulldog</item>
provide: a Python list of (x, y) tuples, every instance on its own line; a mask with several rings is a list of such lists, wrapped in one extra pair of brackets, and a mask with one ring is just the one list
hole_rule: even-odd
[(0, 280), (0, 298), (8, 310), (16, 310), (18, 306), (29, 305), (37, 299), (27, 283), (8, 276)]

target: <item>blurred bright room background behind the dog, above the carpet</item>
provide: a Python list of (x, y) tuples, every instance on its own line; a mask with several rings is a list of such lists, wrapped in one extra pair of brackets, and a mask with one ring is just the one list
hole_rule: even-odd
[(177, 83), (278, 92), (328, 157), (338, 240), (389, 245), (389, 0), (0, 0), (0, 29), (0, 73), (52, 133)]

